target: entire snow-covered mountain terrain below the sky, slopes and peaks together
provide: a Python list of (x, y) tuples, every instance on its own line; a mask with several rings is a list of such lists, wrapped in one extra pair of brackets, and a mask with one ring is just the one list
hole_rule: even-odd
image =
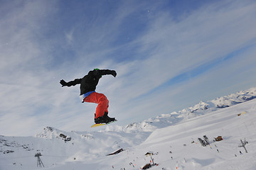
[[(255, 91), (201, 102), (126, 127), (108, 125), (100, 132), (46, 127), (34, 137), (0, 136), (0, 170), (38, 169), (37, 153), (42, 154), (45, 169), (54, 170), (140, 169), (151, 159), (158, 166), (150, 169), (256, 169)], [(210, 142), (206, 147), (198, 141), (204, 135)], [(213, 142), (218, 136), (223, 140)], [(238, 147), (240, 140), (247, 141), (248, 153)], [(153, 155), (146, 157), (149, 151)]]

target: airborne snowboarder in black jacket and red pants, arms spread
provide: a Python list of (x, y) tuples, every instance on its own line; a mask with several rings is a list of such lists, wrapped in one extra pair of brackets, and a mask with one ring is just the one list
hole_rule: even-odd
[(99, 94), (95, 91), (96, 86), (103, 75), (117, 76), (117, 72), (110, 69), (93, 69), (88, 72), (85, 77), (81, 79), (75, 79), (73, 81), (66, 82), (63, 79), (60, 80), (62, 86), (75, 86), (80, 84), (80, 99), (82, 103), (97, 103), (95, 112), (95, 123), (110, 123), (115, 118), (110, 118), (107, 114), (107, 108), (109, 107), (109, 101), (104, 94)]

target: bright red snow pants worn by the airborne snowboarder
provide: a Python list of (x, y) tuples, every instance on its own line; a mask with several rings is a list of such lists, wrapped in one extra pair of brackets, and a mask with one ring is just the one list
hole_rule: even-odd
[(109, 107), (109, 101), (104, 94), (98, 94), (97, 92), (93, 92), (84, 99), (84, 102), (98, 104), (96, 108), (95, 118), (98, 118), (104, 115), (105, 112), (108, 112), (107, 108)]

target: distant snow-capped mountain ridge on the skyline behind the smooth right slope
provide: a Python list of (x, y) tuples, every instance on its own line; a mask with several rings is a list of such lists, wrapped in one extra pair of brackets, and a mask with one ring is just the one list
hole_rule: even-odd
[(217, 111), (220, 108), (228, 108), (234, 106), (238, 103), (243, 103), (245, 101), (250, 101), (256, 98), (256, 87), (250, 88), (245, 91), (239, 91), (235, 94), (230, 94), (228, 96), (222, 96), (211, 101), (200, 101), (195, 106), (184, 108), (178, 112), (172, 112), (170, 114), (162, 114), (156, 118), (149, 118), (140, 123), (131, 123), (125, 127), (111, 126), (107, 127), (107, 131), (144, 131), (153, 132), (157, 128), (164, 128), (169, 125), (175, 125), (181, 121), (186, 121), (190, 118), (195, 118), (199, 115), (204, 115), (213, 111)]

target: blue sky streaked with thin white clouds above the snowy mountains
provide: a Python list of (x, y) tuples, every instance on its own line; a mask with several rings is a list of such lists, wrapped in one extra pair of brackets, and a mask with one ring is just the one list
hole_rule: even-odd
[[(0, 135), (90, 131), (81, 78), (127, 125), (255, 86), (256, 2), (0, 1)], [(95, 129), (93, 129), (95, 130)]]

